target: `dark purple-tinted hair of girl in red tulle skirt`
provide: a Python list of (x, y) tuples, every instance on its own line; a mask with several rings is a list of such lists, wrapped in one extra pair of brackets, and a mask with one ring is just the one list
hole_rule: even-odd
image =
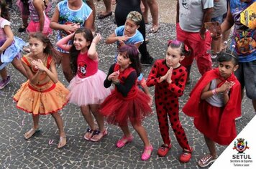
[(137, 47), (135, 47), (132, 44), (126, 44), (119, 48), (119, 53), (126, 53), (127, 57), (129, 57), (132, 64), (130, 64), (131, 67), (133, 67), (136, 72), (137, 76), (140, 76), (140, 73), (142, 72), (142, 66), (140, 64), (140, 57)]

